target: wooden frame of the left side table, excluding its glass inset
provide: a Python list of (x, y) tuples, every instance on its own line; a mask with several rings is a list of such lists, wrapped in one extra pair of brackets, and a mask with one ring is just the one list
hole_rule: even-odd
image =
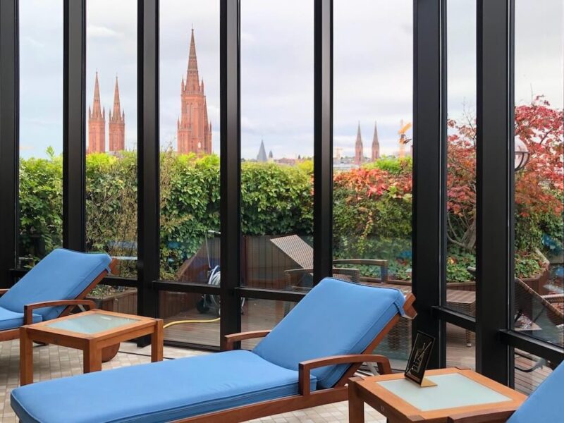
[[(49, 324), (64, 319), (73, 319), (85, 314), (106, 314), (137, 321), (98, 333), (78, 333), (49, 327)], [(33, 383), (33, 342), (61, 345), (82, 350), (84, 353), (84, 372), (102, 370), (102, 349), (129, 341), (140, 336), (151, 336), (151, 361), (163, 360), (163, 320), (130, 314), (107, 312), (92, 309), (80, 314), (71, 314), (59, 319), (42, 321), (20, 327), (20, 386)]]

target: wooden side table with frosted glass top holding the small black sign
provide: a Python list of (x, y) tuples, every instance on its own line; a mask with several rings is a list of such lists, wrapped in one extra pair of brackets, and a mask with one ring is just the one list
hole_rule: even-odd
[(522, 393), (469, 369), (425, 372), (436, 386), (422, 388), (402, 374), (386, 374), (349, 382), (349, 422), (364, 422), (364, 403), (381, 412), (389, 423), (446, 423), (463, 413), (498, 412), (503, 421), (527, 398)]

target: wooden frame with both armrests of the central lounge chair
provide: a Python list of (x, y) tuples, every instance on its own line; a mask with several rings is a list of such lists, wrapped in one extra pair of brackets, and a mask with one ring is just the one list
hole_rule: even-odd
[[(417, 315), (413, 303), (415, 295), (408, 294), (405, 297), (403, 310), (409, 319), (414, 319)], [(374, 355), (372, 351), (376, 348), (384, 336), (393, 328), (400, 319), (400, 314), (391, 319), (384, 326), (384, 329), (374, 338), (362, 354), (354, 355), (334, 355), (332, 357), (321, 357), (314, 360), (301, 362), (298, 366), (298, 395), (277, 398), (275, 400), (262, 401), (260, 403), (233, 407), (227, 410), (211, 412), (204, 415), (188, 417), (186, 419), (176, 420), (175, 423), (205, 423), (205, 422), (222, 422), (236, 423), (245, 420), (258, 419), (270, 415), (276, 415), (281, 412), (290, 412), (302, 410), (303, 408), (316, 407), (329, 403), (337, 403), (348, 399), (348, 387), (346, 386), (350, 377), (357, 372), (363, 362), (375, 362), (378, 365), (378, 371), (381, 374), (391, 373), (390, 361), (383, 355)], [(223, 346), (226, 350), (233, 350), (235, 343), (244, 341), (245, 339), (263, 338), (270, 331), (250, 331), (242, 333), (233, 333), (225, 336)], [(319, 389), (311, 392), (309, 389), (309, 374), (312, 369), (317, 367), (330, 366), (333, 364), (350, 364), (348, 370), (341, 376), (341, 379), (332, 387)]]

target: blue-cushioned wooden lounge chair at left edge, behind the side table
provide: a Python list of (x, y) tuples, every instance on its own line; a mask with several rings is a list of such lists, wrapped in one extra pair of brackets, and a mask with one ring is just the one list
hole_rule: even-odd
[(53, 250), (12, 288), (0, 290), (0, 341), (17, 339), (19, 327), (55, 319), (77, 305), (116, 264), (107, 254)]

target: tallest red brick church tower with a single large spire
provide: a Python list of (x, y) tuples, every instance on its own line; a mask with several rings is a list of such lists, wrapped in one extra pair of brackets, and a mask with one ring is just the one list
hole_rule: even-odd
[(180, 85), (182, 111), (178, 118), (178, 153), (194, 152), (198, 155), (212, 153), (212, 124), (207, 119), (204, 81), (200, 83), (194, 29), (190, 39), (190, 56), (186, 82)]

